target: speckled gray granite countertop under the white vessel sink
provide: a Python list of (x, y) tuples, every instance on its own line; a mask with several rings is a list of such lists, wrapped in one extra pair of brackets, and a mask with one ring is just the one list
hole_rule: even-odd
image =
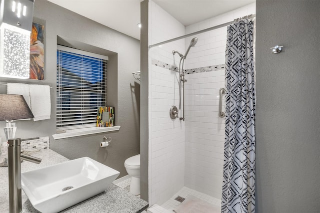
[[(42, 167), (68, 161), (67, 158), (48, 149), (38, 153), (31, 154), (34, 157), (41, 158), (40, 164), (33, 164), (23, 161), (21, 163), (21, 172), (34, 170)], [(8, 196), (8, 172), (7, 167), (0, 168), (0, 213), (9, 212)], [(35, 210), (22, 190), (22, 212), (39, 213)], [(92, 198), (78, 203), (61, 213), (140, 213), (146, 210), (148, 203), (127, 191), (111, 184), (108, 189)]]

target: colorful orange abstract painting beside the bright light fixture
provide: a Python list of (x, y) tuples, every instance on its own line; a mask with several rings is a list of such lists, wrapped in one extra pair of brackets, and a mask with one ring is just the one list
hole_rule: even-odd
[(44, 79), (44, 26), (32, 23), (30, 36), (30, 79)]

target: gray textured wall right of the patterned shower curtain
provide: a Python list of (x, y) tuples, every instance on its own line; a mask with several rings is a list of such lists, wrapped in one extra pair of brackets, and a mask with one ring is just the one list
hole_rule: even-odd
[(256, 1), (258, 213), (320, 211), (319, 20), (320, 1)]

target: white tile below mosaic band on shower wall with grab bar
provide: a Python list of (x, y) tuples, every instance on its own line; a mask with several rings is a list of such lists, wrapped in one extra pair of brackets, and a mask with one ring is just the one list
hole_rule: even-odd
[(224, 87), (224, 69), (185, 78), (184, 185), (221, 199), (224, 118), (218, 117), (218, 91)]

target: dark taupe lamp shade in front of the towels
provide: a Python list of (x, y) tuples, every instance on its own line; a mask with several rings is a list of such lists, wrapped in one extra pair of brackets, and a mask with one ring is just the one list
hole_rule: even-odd
[(22, 95), (0, 94), (0, 121), (33, 118)]

